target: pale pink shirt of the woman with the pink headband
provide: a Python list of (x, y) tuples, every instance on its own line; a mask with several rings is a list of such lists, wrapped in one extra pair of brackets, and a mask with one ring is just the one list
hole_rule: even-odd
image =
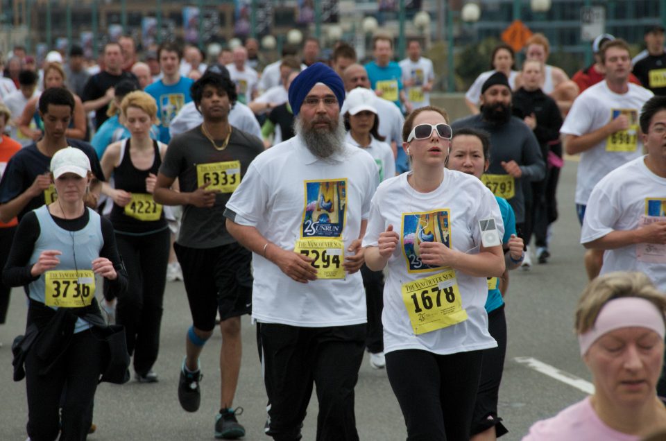
[(638, 441), (640, 437), (627, 435), (606, 426), (592, 408), (590, 397), (569, 406), (548, 420), (534, 423), (522, 441)]

